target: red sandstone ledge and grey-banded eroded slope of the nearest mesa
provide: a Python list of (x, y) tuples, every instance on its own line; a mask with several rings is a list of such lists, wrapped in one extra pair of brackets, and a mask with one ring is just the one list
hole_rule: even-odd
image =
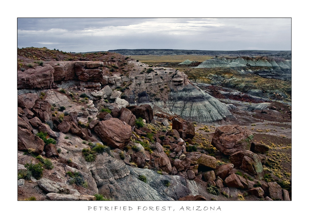
[(66, 88), (77, 86), (101, 91), (109, 86), (122, 88), (130, 105), (156, 105), (166, 113), (197, 122), (234, 119), (225, 104), (193, 85), (183, 72), (150, 68), (141, 62), (123, 59), (44, 62), (43, 66), (18, 71), (17, 88), (50, 89), (69, 84)]

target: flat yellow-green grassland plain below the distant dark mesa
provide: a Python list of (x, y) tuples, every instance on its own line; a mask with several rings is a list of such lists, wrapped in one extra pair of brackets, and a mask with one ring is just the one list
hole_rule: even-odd
[(163, 55), (163, 56), (155, 56), (155, 55), (131, 55), (131, 58), (139, 60), (145, 64), (159, 64), (159, 63), (181, 63), (185, 60), (190, 61), (198, 61), (203, 62), (206, 61), (213, 56), (208, 55)]

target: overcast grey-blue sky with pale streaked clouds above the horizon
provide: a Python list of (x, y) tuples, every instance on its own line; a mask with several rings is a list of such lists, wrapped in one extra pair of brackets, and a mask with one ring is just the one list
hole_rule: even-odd
[(18, 18), (22, 47), (291, 50), (290, 18)]

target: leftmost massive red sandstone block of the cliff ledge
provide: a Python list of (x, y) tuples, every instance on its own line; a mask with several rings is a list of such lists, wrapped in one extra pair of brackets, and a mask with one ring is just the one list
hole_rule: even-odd
[(17, 89), (52, 88), (54, 68), (50, 65), (17, 72)]

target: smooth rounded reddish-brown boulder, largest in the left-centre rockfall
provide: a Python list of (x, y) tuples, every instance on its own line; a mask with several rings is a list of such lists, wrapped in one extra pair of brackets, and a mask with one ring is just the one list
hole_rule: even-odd
[(117, 118), (100, 121), (94, 131), (108, 146), (119, 149), (129, 143), (132, 134), (131, 126)]

